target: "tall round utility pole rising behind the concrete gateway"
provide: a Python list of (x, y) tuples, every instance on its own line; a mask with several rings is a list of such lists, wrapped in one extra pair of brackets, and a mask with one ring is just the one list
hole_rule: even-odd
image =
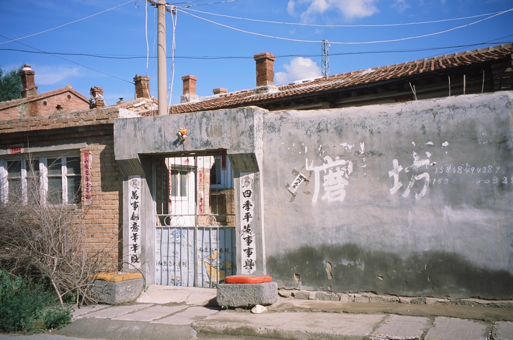
[(159, 115), (167, 114), (166, 2), (157, 3), (157, 100)]

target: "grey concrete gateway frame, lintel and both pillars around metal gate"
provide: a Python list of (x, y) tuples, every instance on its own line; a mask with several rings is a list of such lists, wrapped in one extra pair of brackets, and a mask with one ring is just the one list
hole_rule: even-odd
[[(123, 178), (123, 247), (120, 258), (123, 270), (141, 272), (146, 284), (155, 282), (155, 225), (156, 202), (153, 199), (153, 155), (175, 153), (209, 152), (226, 149), (233, 169), (235, 197), (235, 234), (242, 226), (241, 196), (239, 183), (241, 175), (254, 174), (253, 232), (256, 239), (256, 261), (254, 274), (266, 274), (265, 228), (263, 202), (263, 115), (267, 112), (258, 107), (193, 112), (150, 117), (114, 119), (114, 154), (122, 169)], [(187, 139), (177, 137), (182, 127), (188, 129)], [(130, 192), (128, 176), (141, 178), (141, 234), (140, 262), (131, 263), (130, 247)], [(241, 238), (236, 237), (235, 251), (237, 273), (241, 273)]]

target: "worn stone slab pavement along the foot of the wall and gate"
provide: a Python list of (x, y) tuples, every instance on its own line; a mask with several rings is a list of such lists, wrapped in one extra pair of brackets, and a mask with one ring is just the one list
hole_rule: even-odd
[(215, 290), (151, 286), (136, 302), (76, 309), (70, 325), (15, 340), (513, 340), (513, 309), (281, 298), (268, 311), (221, 310)]

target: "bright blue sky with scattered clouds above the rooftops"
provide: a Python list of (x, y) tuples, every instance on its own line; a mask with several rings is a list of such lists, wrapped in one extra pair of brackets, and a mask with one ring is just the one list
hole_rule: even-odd
[[(320, 76), (323, 40), (330, 45), (330, 74), (513, 41), (511, 0), (170, 4), (177, 9), (174, 16), (166, 14), (173, 104), (180, 102), (186, 74), (198, 76), (201, 96), (219, 87), (229, 92), (253, 88), (253, 55), (261, 52), (277, 56), (278, 85)], [(150, 76), (151, 93), (157, 96), (156, 9), (144, 0), (0, 0), (0, 5), (0, 67), (30, 64), (38, 92), (70, 84), (89, 96), (91, 87), (101, 86), (106, 104), (112, 105), (120, 97), (133, 99), (133, 77), (143, 74)]]

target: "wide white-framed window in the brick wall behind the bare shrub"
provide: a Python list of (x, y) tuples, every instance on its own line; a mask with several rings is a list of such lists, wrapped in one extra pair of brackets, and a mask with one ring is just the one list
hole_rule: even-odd
[(81, 179), (79, 156), (0, 159), (0, 201), (78, 204)]

